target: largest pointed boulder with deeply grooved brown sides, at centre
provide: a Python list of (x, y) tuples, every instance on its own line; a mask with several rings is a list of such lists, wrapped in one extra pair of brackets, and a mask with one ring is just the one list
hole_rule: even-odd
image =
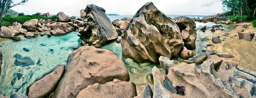
[(131, 19), (122, 35), (121, 45), (124, 57), (139, 63), (157, 63), (161, 55), (177, 56), (184, 42), (177, 24), (149, 2)]

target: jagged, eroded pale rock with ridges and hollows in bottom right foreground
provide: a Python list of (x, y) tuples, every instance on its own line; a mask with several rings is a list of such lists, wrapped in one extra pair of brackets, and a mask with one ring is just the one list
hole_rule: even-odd
[(167, 57), (160, 57), (160, 65), (164, 67), (167, 76), (164, 76), (157, 67), (152, 69), (154, 96), (255, 98), (256, 72), (227, 61), (223, 61), (216, 71), (215, 64), (219, 62), (216, 57), (210, 57), (200, 66), (196, 66), (195, 63), (174, 64), (170, 63), (172, 61), (169, 59), (163, 59)]

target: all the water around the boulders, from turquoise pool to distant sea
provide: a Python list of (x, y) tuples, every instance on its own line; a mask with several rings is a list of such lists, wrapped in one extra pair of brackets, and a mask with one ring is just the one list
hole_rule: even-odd
[[(109, 16), (111, 21), (123, 17), (132, 16)], [(174, 16), (169, 17), (173, 18)], [(232, 29), (226, 29), (229, 26), (222, 24), (224, 29), (226, 29), (225, 31), (211, 33), (210, 27), (215, 25), (214, 23), (196, 23), (196, 25), (197, 28), (207, 25), (207, 30), (205, 33), (200, 30), (197, 31), (196, 54), (190, 59), (194, 59), (202, 54), (201, 50), (206, 43), (203, 39), (204, 37), (216, 33), (227, 32)], [(66, 65), (68, 54), (72, 52), (71, 47), (79, 46), (80, 42), (77, 34), (77, 32), (73, 32), (63, 36), (52, 36), (50, 38), (47, 38), (47, 36), (38, 36), (37, 38), (32, 39), (22, 38), (23, 40), (19, 42), (11, 40), (0, 42), (0, 51), (3, 53), (3, 64), (1, 66), (0, 76), (0, 94), (8, 97), (13, 92), (26, 94), (27, 87), (33, 84), (37, 79), (40, 79), (46, 73), (52, 71), (57, 65)], [(141, 64), (134, 62), (132, 59), (123, 58), (121, 44), (117, 44), (116, 41), (110, 42), (100, 48), (113, 51), (117, 57), (124, 62), (130, 75), (130, 81), (134, 82), (137, 88), (141, 87), (141, 90), (146, 84), (152, 84), (151, 70), (154, 66), (157, 66), (163, 74), (165, 73), (160, 67), (160, 64)], [(15, 65), (15, 54), (20, 54), (22, 57), (30, 57), (34, 64), (24, 67)], [(38, 60), (40, 60), (39, 63)], [(138, 92), (140, 91), (138, 90)]]

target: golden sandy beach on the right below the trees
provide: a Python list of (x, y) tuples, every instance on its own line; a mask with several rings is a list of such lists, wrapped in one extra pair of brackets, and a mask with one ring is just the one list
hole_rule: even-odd
[[(220, 36), (220, 39), (225, 41), (221, 41), (219, 44), (212, 43), (212, 36), (209, 36), (209, 41), (207, 44), (212, 44), (213, 46), (208, 47), (208, 50), (215, 51), (217, 54), (232, 54), (235, 56), (234, 58), (221, 58), (223, 61), (229, 61), (237, 63), (239, 66), (249, 69), (250, 71), (256, 71), (256, 36), (254, 35), (252, 41), (245, 41), (243, 39), (239, 39), (238, 30), (241, 30), (244, 24), (248, 24), (249, 29), (244, 30), (244, 32), (256, 33), (256, 30), (253, 30), (253, 26), (251, 22), (238, 24), (235, 30), (232, 30), (228, 35), (228, 37), (223, 36), (224, 33), (216, 34), (216, 36)], [(250, 24), (250, 26), (249, 26)], [(235, 36), (237, 35), (237, 36)], [(230, 38), (234, 37), (234, 38)]]

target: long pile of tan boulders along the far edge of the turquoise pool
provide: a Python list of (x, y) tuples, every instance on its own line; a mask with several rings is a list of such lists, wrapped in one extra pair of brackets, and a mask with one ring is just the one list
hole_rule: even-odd
[[(51, 17), (49, 13), (41, 14), (37, 13), (38, 16)], [(73, 30), (79, 29), (76, 27), (76, 23), (82, 19), (76, 19), (76, 16), (67, 16), (64, 12), (59, 12), (57, 14), (57, 19), (55, 21), (44, 20), (44, 19), (31, 19), (28, 22), (25, 22), (21, 25), (18, 22), (14, 22), (12, 26), (2, 27), (0, 31), (1, 38), (12, 38), (15, 41), (20, 41), (17, 35), (25, 35), (25, 38), (33, 38), (38, 36), (40, 33), (41, 36), (48, 35), (50, 36), (59, 36), (72, 32)], [(79, 24), (80, 25), (80, 24)], [(83, 26), (83, 24), (81, 24)]]

